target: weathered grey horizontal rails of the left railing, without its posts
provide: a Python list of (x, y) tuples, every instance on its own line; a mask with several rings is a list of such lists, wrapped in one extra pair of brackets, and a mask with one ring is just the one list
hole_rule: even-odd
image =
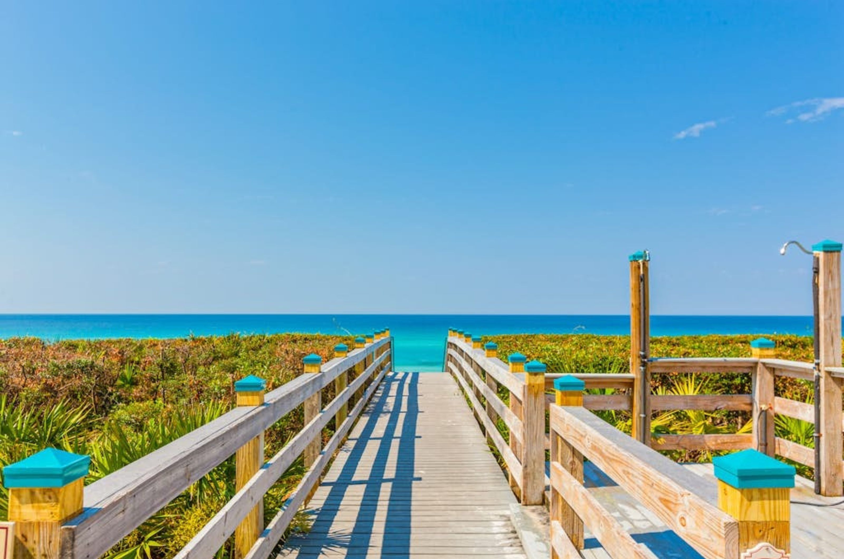
[[(260, 437), (269, 426), (312, 399), (341, 375), (358, 371), (354, 381), (307, 421), (279, 453), (235, 493), (235, 496), (177, 555), (212, 557), (238, 524), (262, 501), (269, 487), (314, 441), (321, 453), (290, 497), (288, 504), (255, 542), (250, 559), (268, 556), (284, 534), (296, 510), (317, 483), (338, 444), (349, 432), (391, 365), (392, 339), (385, 337), (351, 350), (319, 367), (321, 374), (304, 374), (266, 393), (263, 404), (240, 406), (186, 436), (149, 453), (84, 488), (84, 509), (61, 527), (60, 554), (65, 559), (96, 559), (133, 529), (158, 512), (193, 483), (229, 459), (238, 448)], [(365, 368), (364, 368), (365, 366)], [(354, 408), (338, 422), (332, 439), (322, 448), (322, 429), (358, 393)]]

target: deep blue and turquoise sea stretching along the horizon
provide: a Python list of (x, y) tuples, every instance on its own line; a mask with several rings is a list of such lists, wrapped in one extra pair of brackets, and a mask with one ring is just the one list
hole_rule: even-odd
[[(493, 334), (629, 334), (626, 315), (6, 314), (0, 338), (179, 338), (194, 334), (365, 334), (387, 328), (396, 369), (441, 371), (448, 328)], [(811, 317), (652, 316), (651, 334), (812, 334)]]

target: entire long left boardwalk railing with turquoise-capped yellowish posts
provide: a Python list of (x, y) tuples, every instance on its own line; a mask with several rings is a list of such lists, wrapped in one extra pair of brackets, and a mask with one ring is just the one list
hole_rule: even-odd
[[(308, 355), (305, 372), (318, 374), (303, 374), (268, 393), (262, 379), (242, 379), (235, 383), (234, 410), (84, 489), (88, 457), (46, 450), (8, 466), (3, 475), (15, 559), (97, 559), (232, 455), (235, 495), (176, 557), (210, 559), (231, 535), (235, 557), (268, 557), (390, 369), (389, 331), (367, 338), (357, 339), (353, 350), (338, 345), (324, 364)], [(323, 404), (322, 393), (332, 383), (336, 394)], [(263, 432), (303, 404), (305, 426), (265, 462)], [(335, 418), (333, 437), (323, 446), (323, 428)], [(303, 454), (306, 474), (265, 529), (263, 496)]]

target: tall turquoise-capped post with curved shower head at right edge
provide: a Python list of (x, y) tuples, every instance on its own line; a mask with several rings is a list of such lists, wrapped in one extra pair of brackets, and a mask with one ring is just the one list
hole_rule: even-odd
[(814, 475), (820, 475), (820, 494), (832, 497), (844, 491), (841, 479), (841, 383), (844, 381), (826, 372), (828, 366), (841, 366), (841, 243), (822, 241), (812, 245), (812, 251), (820, 264), (820, 464), (815, 464)]

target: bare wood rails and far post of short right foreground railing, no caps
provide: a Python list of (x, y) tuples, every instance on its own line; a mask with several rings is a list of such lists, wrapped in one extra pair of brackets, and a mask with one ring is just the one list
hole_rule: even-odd
[(550, 424), (556, 556), (579, 556), (585, 524), (611, 557), (652, 557), (583, 486), (588, 459), (702, 556), (738, 558), (738, 522), (717, 506), (714, 484), (583, 408), (552, 405)]

